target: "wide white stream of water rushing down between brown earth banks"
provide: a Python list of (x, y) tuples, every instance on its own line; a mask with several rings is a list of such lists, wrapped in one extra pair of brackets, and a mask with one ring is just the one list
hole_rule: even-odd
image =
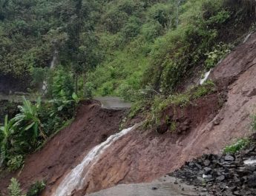
[(56, 191), (51, 196), (70, 196), (73, 191), (81, 190), (84, 187), (88, 172), (93, 164), (96, 163), (96, 160), (98, 160), (99, 155), (102, 155), (108, 146), (111, 146), (114, 141), (130, 132), (135, 126), (137, 125), (134, 125), (128, 129), (123, 129), (122, 132), (118, 132), (115, 135), (111, 135), (105, 142), (102, 142), (98, 146), (91, 149), (82, 162), (72, 169), (67, 176), (65, 176)]

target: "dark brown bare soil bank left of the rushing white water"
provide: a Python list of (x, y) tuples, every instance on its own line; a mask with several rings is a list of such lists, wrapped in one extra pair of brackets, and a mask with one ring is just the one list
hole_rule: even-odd
[(119, 130), (125, 110), (102, 109), (97, 101), (83, 101), (70, 126), (50, 139), (42, 150), (30, 155), (22, 171), (0, 179), (1, 193), (7, 194), (10, 178), (15, 177), (26, 190), (36, 180), (47, 180), (45, 195), (53, 184), (76, 166), (93, 146)]

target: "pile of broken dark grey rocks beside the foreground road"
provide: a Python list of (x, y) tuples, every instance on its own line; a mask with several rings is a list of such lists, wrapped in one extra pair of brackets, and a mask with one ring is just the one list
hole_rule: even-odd
[(169, 175), (211, 195), (256, 195), (256, 146), (235, 155), (203, 155)]

